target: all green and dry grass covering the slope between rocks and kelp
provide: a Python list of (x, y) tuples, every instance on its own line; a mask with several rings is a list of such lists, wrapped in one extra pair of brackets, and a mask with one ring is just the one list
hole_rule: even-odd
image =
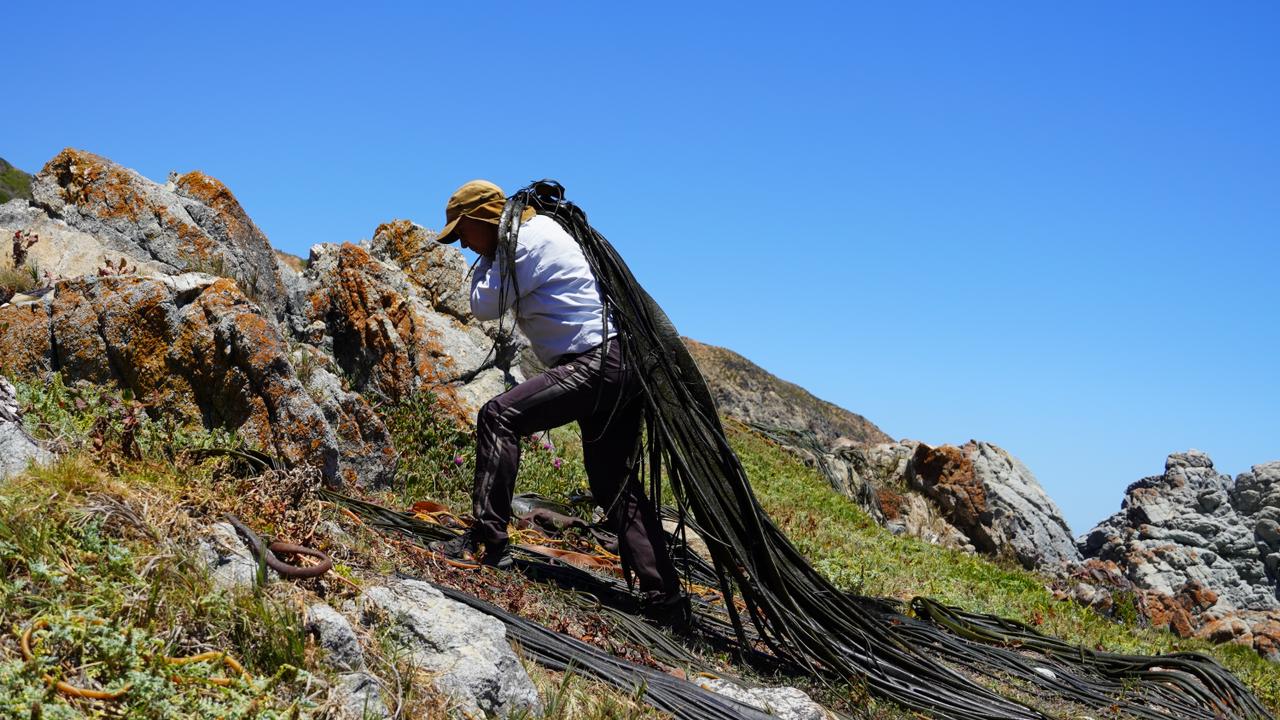
[[(189, 537), (209, 519), (237, 511), (270, 534), (300, 537), (289, 533), (301, 533), (301, 528), (320, 520), (343, 523), (343, 516), (312, 501), (292, 509), (269, 498), (264, 501), (252, 488), (229, 480), (219, 462), (186, 464), (166, 450), (234, 445), (234, 438), (225, 434), (159, 423), (143, 423), (141, 429), (127, 433), (124, 419), (133, 413), (127, 398), (68, 389), (56, 382), (31, 383), (22, 391), (28, 421), (61, 443), (68, 455), (51, 469), (0, 486), (0, 697), (14, 698), (0, 715), (26, 716), (33, 702), (41, 702), (45, 717), (82, 716), (77, 706), (49, 692), (41, 680), (42, 673), (74, 666), (47, 657), (69, 652), (65, 643), (76, 633), (87, 648), (76, 651), (82, 653), (77, 659), (102, 662), (90, 665), (86, 673), (99, 675), (109, 688), (131, 679), (137, 683), (132, 693), (137, 705), (127, 706), (134, 707), (134, 716), (143, 716), (146, 707), (160, 703), (180, 708), (172, 716), (234, 717), (251, 710), (264, 716), (288, 716), (293, 707), (300, 707), (303, 715), (323, 707), (323, 696), (317, 698), (312, 692), (308, 700), (305, 689), (308, 678), (323, 680), (326, 675), (315, 662), (316, 650), (301, 635), (300, 602), (311, 602), (312, 593), (321, 592), (330, 602), (340, 603), (342, 597), (351, 596), (347, 583), (364, 585), (376, 582), (379, 574), (412, 569), (410, 559), (383, 539), (347, 527), (351, 532), (347, 546), (329, 548), (339, 561), (339, 573), (347, 578), (342, 584), (274, 583), (257, 596), (216, 593), (200, 565), (189, 559)], [(444, 425), (429, 409), (430, 404), (422, 402), (392, 414), (399, 447), (420, 450), (404, 457), (404, 486), (381, 500), (407, 505), (436, 497), (463, 510), (468, 505), (471, 441)], [(1208, 647), (1178, 641), (1165, 632), (1114, 623), (1089, 610), (1055, 602), (1039, 578), (1019, 569), (891, 536), (855, 505), (832, 493), (815, 471), (782, 448), (736, 423), (730, 423), (730, 434), (764, 507), (842, 588), (897, 598), (927, 594), (970, 610), (1020, 619), (1046, 633), (1112, 651), (1208, 652), (1238, 673), (1270, 707), (1280, 707), (1280, 671), (1247, 648)], [(102, 450), (95, 450), (95, 438)], [(520, 488), (547, 495), (580, 488), (585, 474), (572, 430), (559, 430), (549, 439), (544, 443), (544, 438), (538, 438), (526, 447)], [(137, 455), (132, 460), (124, 452), (131, 443)], [(165, 528), (168, 539), (147, 537), (140, 529), (146, 527)], [(548, 606), (530, 612), (545, 621), (557, 616), (558, 610)], [(61, 633), (37, 634), (46, 657), (42, 666), (24, 662), (17, 642), (18, 633), (37, 618), (49, 618)], [(102, 632), (95, 618), (109, 619), (106, 626), (111, 632)], [(260, 632), (262, 626), (270, 632)], [(120, 630), (132, 633), (132, 644), (124, 650), (110, 642)], [(173, 683), (166, 679), (168, 669), (157, 661), (165, 655), (211, 647), (230, 648), (244, 661), (253, 680), (225, 689), (211, 688), (201, 684), (200, 678), (221, 675), (223, 669), (201, 665), (189, 669), (191, 682)], [(388, 662), (399, 667), (393, 652), (388, 652)], [(404, 679), (401, 700), (407, 707), (429, 717), (443, 711), (439, 698), (415, 679), (412, 669), (401, 667), (399, 674), (396, 682)], [(653, 715), (626, 694), (581, 678), (538, 669), (531, 669), (531, 674), (548, 703), (559, 708), (553, 716)], [(384, 678), (393, 679), (385, 674)], [(842, 694), (842, 691), (808, 689), (827, 702)], [(84, 708), (83, 703), (78, 707)], [(911, 716), (873, 703), (844, 705), (842, 710), (867, 717)]]

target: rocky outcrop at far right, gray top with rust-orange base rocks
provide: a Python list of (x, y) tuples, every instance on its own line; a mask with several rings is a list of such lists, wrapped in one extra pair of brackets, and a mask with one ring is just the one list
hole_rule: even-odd
[(1080, 538), (1084, 566), (1103, 571), (1073, 597), (1129, 591), (1153, 625), (1280, 660), (1280, 462), (1233, 482), (1203, 452), (1175, 452), (1120, 507)]

